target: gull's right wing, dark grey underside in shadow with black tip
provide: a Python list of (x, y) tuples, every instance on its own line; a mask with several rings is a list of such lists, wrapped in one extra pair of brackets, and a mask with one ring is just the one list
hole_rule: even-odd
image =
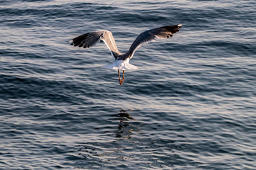
[(134, 52), (143, 44), (155, 40), (156, 38), (166, 39), (171, 38), (174, 33), (177, 33), (181, 24), (175, 26), (164, 26), (159, 28), (154, 28), (152, 30), (146, 30), (141, 33), (136, 40), (132, 43), (129, 51), (125, 55), (126, 57), (132, 58)]

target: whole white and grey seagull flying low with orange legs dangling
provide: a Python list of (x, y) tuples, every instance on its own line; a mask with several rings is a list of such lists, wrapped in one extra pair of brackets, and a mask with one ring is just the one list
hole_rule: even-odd
[[(114, 42), (114, 37), (109, 30), (97, 30), (91, 33), (86, 33), (80, 35), (73, 40), (71, 40), (70, 45), (88, 48), (92, 45), (97, 44), (97, 42), (103, 41), (110, 49), (112, 57), (114, 57), (114, 63), (108, 64), (105, 67), (108, 69), (117, 69), (119, 84), (122, 85), (124, 82), (124, 70), (125, 69), (137, 69), (136, 66), (129, 64), (129, 60), (134, 55), (134, 52), (144, 43), (154, 41), (155, 39), (166, 39), (171, 38), (174, 33), (177, 33), (181, 24), (175, 26), (163, 26), (159, 28), (154, 28), (151, 30), (146, 30), (145, 32), (139, 34), (139, 36), (134, 40), (129, 50), (122, 54), (117, 49), (117, 45)], [(119, 70), (123, 71), (122, 79), (120, 78)]]

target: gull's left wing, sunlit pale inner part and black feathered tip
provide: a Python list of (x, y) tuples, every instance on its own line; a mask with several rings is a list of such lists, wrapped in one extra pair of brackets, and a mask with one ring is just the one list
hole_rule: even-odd
[(117, 49), (117, 45), (114, 41), (114, 37), (109, 30), (97, 30), (92, 33), (86, 33), (80, 35), (73, 40), (71, 40), (70, 45), (78, 46), (78, 47), (91, 47), (92, 45), (97, 44), (100, 40), (104, 41), (107, 47), (110, 49), (112, 56), (116, 59), (118, 55), (120, 55), (119, 50)]

